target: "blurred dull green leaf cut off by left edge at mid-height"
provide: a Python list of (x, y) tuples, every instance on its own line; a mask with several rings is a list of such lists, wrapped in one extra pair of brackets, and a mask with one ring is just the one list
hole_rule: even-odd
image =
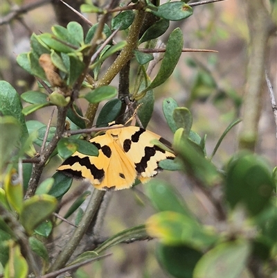
[(0, 116), (0, 171), (11, 158), (21, 136), (19, 121), (13, 116)]

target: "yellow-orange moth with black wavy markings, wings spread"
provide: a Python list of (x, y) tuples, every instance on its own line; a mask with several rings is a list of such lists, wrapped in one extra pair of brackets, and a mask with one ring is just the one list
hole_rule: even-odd
[(107, 130), (90, 140), (99, 150), (98, 157), (75, 152), (57, 168), (64, 174), (76, 178), (87, 178), (96, 189), (129, 189), (139, 178), (145, 183), (162, 168), (163, 159), (174, 159), (175, 155), (151, 143), (153, 139), (166, 143), (158, 134), (134, 125), (112, 123), (114, 129)]

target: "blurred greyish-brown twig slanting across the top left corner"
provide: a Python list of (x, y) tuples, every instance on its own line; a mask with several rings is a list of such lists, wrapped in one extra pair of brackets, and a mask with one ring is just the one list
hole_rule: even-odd
[(28, 3), (26, 5), (22, 5), (21, 7), (14, 8), (8, 15), (0, 19), (0, 25), (9, 24), (12, 19), (16, 19), (20, 15), (23, 15), (26, 12), (30, 12), (30, 10), (35, 10), (40, 6), (44, 6), (47, 3), (50, 3), (53, 0), (40, 0), (34, 3)]

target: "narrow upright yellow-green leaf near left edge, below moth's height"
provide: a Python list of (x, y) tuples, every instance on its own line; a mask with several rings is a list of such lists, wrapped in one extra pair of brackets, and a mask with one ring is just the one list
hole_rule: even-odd
[(6, 174), (4, 180), (4, 190), (10, 206), (21, 214), (23, 206), (23, 185), (20, 183), (19, 175), (14, 168)]

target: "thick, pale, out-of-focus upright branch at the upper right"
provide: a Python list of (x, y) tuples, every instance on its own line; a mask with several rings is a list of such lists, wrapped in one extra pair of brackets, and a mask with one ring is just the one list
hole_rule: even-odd
[(253, 151), (258, 141), (258, 123), (263, 102), (263, 85), (265, 84), (265, 61), (266, 54), (269, 53), (267, 42), (274, 24), (262, 1), (251, 0), (247, 1), (246, 5), (250, 51), (239, 147)]

